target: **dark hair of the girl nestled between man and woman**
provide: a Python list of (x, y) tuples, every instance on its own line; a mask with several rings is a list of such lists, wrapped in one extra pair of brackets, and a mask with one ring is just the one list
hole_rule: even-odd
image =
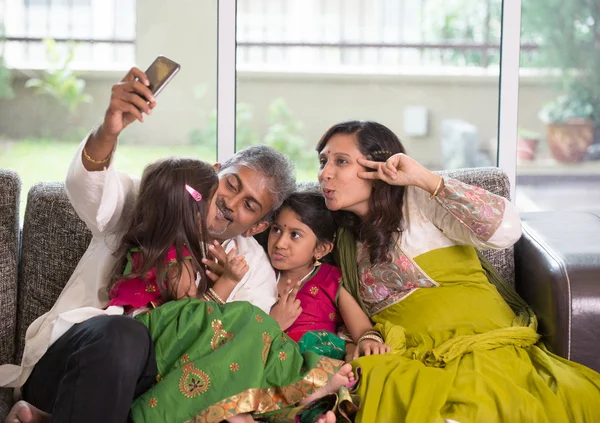
[[(279, 210), (275, 212), (277, 219), (282, 210), (289, 209), (296, 213), (302, 223), (308, 226), (317, 237), (318, 242), (335, 242), (337, 225), (331, 211), (325, 205), (323, 194), (316, 190), (297, 191), (287, 197)], [(327, 255), (321, 261), (333, 264)]]

